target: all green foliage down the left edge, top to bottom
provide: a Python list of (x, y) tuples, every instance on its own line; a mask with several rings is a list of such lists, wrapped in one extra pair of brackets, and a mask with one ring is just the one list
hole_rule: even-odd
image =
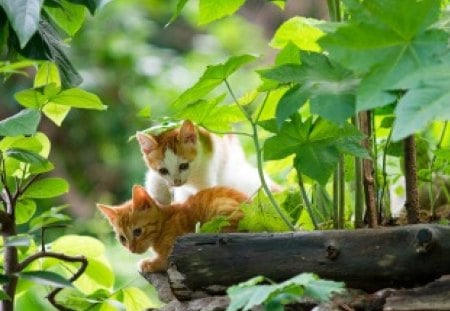
[[(54, 164), (48, 159), (51, 142), (38, 127), (43, 116), (61, 126), (72, 108), (106, 109), (95, 94), (76, 87), (81, 77), (62, 43), (80, 29), (86, 8), (93, 14), (97, 6), (96, 0), (0, 1), (0, 53), (8, 55), (7, 61), (0, 62), (0, 74), (7, 79), (35, 69), (33, 87), (15, 94), (22, 110), (0, 121), (0, 220), (4, 237), (0, 284), (8, 289), (0, 289), (0, 300), (11, 301), (21, 310), (42, 305), (34, 301), (36, 291), (42, 292), (42, 297), (50, 292), (50, 297), (57, 293), (55, 289), (64, 289), (56, 303), (73, 310), (155, 306), (138, 288), (114, 289), (114, 274), (100, 241), (66, 235), (45, 243), (48, 229), (64, 226), (71, 218), (64, 213), (67, 205), (49, 209), (47, 204), (41, 205), (43, 200), (67, 193), (69, 185), (62, 178), (44, 177)], [(11, 255), (15, 252), (17, 258)], [(87, 262), (83, 270), (80, 256)], [(79, 272), (83, 273), (75, 278)], [(16, 278), (17, 290), (10, 285)]]

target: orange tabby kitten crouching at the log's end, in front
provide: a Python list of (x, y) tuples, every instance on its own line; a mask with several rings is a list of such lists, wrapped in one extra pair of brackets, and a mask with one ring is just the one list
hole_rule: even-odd
[(130, 201), (118, 206), (97, 204), (97, 208), (108, 218), (117, 239), (130, 252), (142, 254), (153, 248), (156, 257), (142, 260), (139, 269), (156, 272), (167, 269), (167, 258), (175, 239), (195, 232), (198, 222), (223, 215), (230, 222), (223, 231), (236, 231), (243, 216), (239, 206), (246, 200), (247, 196), (237, 190), (214, 187), (198, 192), (182, 204), (161, 205), (144, 187), (135, 185)]

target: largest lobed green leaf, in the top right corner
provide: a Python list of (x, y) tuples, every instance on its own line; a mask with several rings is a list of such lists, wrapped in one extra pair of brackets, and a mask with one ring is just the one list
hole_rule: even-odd
[(437, 21), (440, 1), (346, 2), (351, 3), (352, 21), (319, 43), (333, 60), (365, 75), (357, 92), (357, 110), (382, 107), (395, 100), (387, 92), (392, 85), (436, 63), (445, 51), (448, 35), (429, 28)]

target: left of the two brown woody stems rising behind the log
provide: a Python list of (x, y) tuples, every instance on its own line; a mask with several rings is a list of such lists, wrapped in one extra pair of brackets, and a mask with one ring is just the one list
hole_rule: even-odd
[[(369, 111), (359, 114), (359, 122), (361, 131), (367, 136), (363, 140), (363, 146), (372, 153), (372, 126), (370, 121), (371, 115)], [(369, 227), (378, 226), (378, 211), (376, 202), (376, 189), (374, 178), (374, 165), (372, 159), (363, 159), (363, 185), (366, 200)]]

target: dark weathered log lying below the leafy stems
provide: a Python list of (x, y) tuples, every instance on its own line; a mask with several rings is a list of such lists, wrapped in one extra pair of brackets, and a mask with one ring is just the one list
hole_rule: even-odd
[(425, 284), (450, 274), (449, 262), (450, 227), (441, 225), (190, 234), (177, 239), (168, 276), (180, 300), (223, 292), (257, 275), (283, 281), (302, 272), (375, 291)]

